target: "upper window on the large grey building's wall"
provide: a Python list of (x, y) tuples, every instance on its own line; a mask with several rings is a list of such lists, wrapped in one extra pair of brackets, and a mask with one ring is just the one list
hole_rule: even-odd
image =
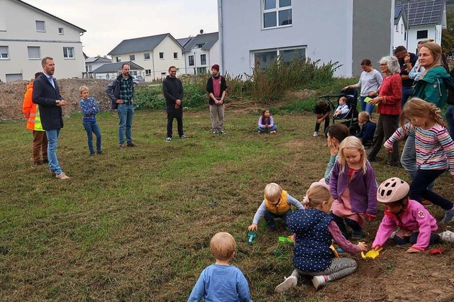
[(263, 28), (292, 25), (292, 0), (262, 0)]

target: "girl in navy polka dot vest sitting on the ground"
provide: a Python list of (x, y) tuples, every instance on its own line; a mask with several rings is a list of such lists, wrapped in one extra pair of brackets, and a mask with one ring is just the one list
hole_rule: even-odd
[(331, 195), (326, 184), (315, 182), (306, 192), (303, 210), (296, 211), (287, 218), (287, 228), (295, 233), (295, 246), (292, 275), (279, 284), (275, 291), (282, 292), (296, 286), (299, 275), (312, 276), (316, 289), (330, 281), (353, 274), (356, 262), (350, 258), (335, 258), (331, 250), (331, 240), (351, 255), (365, 252), (367, 245), (359, 242), (353, 245), (343, 237), (333, 217)]

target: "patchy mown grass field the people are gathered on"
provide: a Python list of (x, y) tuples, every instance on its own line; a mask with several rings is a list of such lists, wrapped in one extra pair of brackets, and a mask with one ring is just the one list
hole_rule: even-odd
[[(139, 147), (119, 150), (118, 117), (101, 113), (104, 155), (89, 157), (81, 116), (73, 115), (57, 150), (69, 181), (32, 166), (24, 121), (0, 122), (0, 300), (185, 301), (214, 262), (211, 236), (226, 231), (238, 242), (232, 264), (244, 272), (254, 301), (336, 301), (345, 280), (367, 279), (367, 267), (317, 293), (306, 282), (277, 294), (275, 286), (292, 271), (292, 246), (277, 237), (290, 234), (282, 224), (267, 234), (261, 221), (259, 237), (248, 245), (246, 228), (265, 184), (277, 182), (301, 200), (328, 161), (326, 140), (311, 136), (312, 116), (275, 115), (277, 135), (258, 135), (258, 117), (226, 111), (228, 134), (211, 135), (208, 111), (186, 112), (189, 140), (165, 142), (165, 113), (136, 111)], [(407, 179), (381, 157), (374, 163), (379, 182)], [(454, 198), (448, 174), (436, 189)], [(443, 213), (432, 208), (439, 220)], [(367, 226), (368, 242), (377, 224)], [(396, 264), (375, 265), (387, 274)], [(348, 300), (375, 301), (367, 291), (370, 296), (352, 293)]]

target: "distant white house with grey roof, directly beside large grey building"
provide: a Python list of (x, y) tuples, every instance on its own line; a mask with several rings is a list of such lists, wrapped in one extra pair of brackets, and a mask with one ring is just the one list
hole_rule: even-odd
[(183, 73), (204, 74), (211, 71), (212, 65), (220, 64), (218, 33), (203, 33), (190, 38), (189, 41), (177, 40), (180, 44), (184, 43)]

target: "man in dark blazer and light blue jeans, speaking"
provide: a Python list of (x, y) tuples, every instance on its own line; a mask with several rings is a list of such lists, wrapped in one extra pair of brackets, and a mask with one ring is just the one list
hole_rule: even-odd
[(48, 136), (48, 160), (50, 172), (57, 179), (70, 179), (60, 168), (57, 160), (57, 140), (60, 129), (63, 128), (62, 106), (66, 101), (60, 95), (57, 82), (52, 77), (55, 72), (55, 63), (52, 57), (41, 60), (43, 74), (35, 79), (33, 85), (33, 103), (39, 105), (41, 124)]

